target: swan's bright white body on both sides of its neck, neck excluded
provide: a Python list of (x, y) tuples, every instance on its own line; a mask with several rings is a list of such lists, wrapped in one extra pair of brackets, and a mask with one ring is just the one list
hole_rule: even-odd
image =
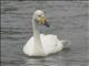
[[(56, 35), (40, 34), (40, 40), (41, 40), (41, 45), (42, 45), (43, 53), (44, 53), (43, 55), (57, 53), (57, 52), (61, 51), (63, 47), (62, 41), (59, 41)], [(37, 52), (37, 50), (34, 50), (33, 36), (27, 42), (23, 52), (29, 56), (36, 56), (37, 55), (37, 54), (33, 54), (34, 52)], [(41, 53), (38, 53), (38, 55), (42, 56)]]

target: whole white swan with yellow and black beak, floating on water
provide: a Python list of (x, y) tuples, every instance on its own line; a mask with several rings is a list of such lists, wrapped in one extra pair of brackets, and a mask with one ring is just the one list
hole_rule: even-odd
[(57, 35), (40, 34), (39, 23), (49, 26), (44, 13), (41, 10), (37, 10), (33, 13), (33, 36), (23, 46), (23, 53), (28, 56), (47, 56), (51, 53), (60, 52), (65, 47), (67, 41), (59, 41)]

